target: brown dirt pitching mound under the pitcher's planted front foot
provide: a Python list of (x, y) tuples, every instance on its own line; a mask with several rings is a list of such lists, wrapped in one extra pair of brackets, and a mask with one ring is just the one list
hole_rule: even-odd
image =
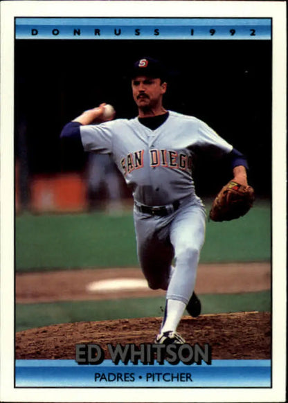
[[(153, 343), (161, 318), (51, 325), (17, 332), (16, 359), (75, 359), (76, 343)], [(183, 316), (179, 333), (189, 344), (209, 343), (212, 359), (270, 359), (269, 312)], [(107, 356), (107, 358), (109, 358)]]

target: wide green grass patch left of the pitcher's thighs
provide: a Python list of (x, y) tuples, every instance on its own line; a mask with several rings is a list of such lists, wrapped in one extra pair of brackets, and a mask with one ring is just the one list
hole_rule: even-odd
[(132, 215), (22, 215), (16, 220), (16, 267), (30, 269), (134, 266)]

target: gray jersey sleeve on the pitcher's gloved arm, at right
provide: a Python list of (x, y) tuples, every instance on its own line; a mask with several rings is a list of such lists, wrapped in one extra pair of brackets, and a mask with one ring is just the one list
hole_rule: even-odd
[(197, 145), (204, 152), (209, 152), (213, 157), (222, 157), (233, 150), (233, 145), (220, 137), (211, 127), (199, 120)]

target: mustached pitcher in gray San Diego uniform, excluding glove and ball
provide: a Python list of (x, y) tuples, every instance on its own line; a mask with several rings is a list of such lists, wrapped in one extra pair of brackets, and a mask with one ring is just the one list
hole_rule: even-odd
[[(104, 118), (105, 104), (84, 111), (62, 130), (62, 139), (86, 152), (111, 154), (132, 189), (137, 253), (151, 289), (166, 290), (165, 313), (155, 343), (185, 343), (177, 326), (185, 309), (201, 313), (195, 292), (206, 213), (195, 194), (195, 155), (226, 156), (231, 175), (247, 185), (245, 157), (203, 121), (166, 110), (166, 71), (151, 57), (132, 66), (132, 95), (138, 116)], [(94, 124), (95, 121), (102, 123)], [(174, 265), (172, 265), (174, 262)]]

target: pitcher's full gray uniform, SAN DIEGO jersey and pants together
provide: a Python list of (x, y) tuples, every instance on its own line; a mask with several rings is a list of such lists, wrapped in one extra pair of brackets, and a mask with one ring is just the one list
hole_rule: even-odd
[[(85, 151), (111, 154), (132, 188), (138, 260), (148, 285), (165, 289), (166, 298), (187, 304), (206, 226), (192, 179), (194, 156), (198, 149), (222, 156), (231, 152), (232, 145), (201, 120), (174, 111), (154, 130), (138, 118), (117, 119), (82, 125), (80, 136)], [(147, 209), (166, 206), (166, 210), (168, 205), (172, 208), (164, 216)]]

